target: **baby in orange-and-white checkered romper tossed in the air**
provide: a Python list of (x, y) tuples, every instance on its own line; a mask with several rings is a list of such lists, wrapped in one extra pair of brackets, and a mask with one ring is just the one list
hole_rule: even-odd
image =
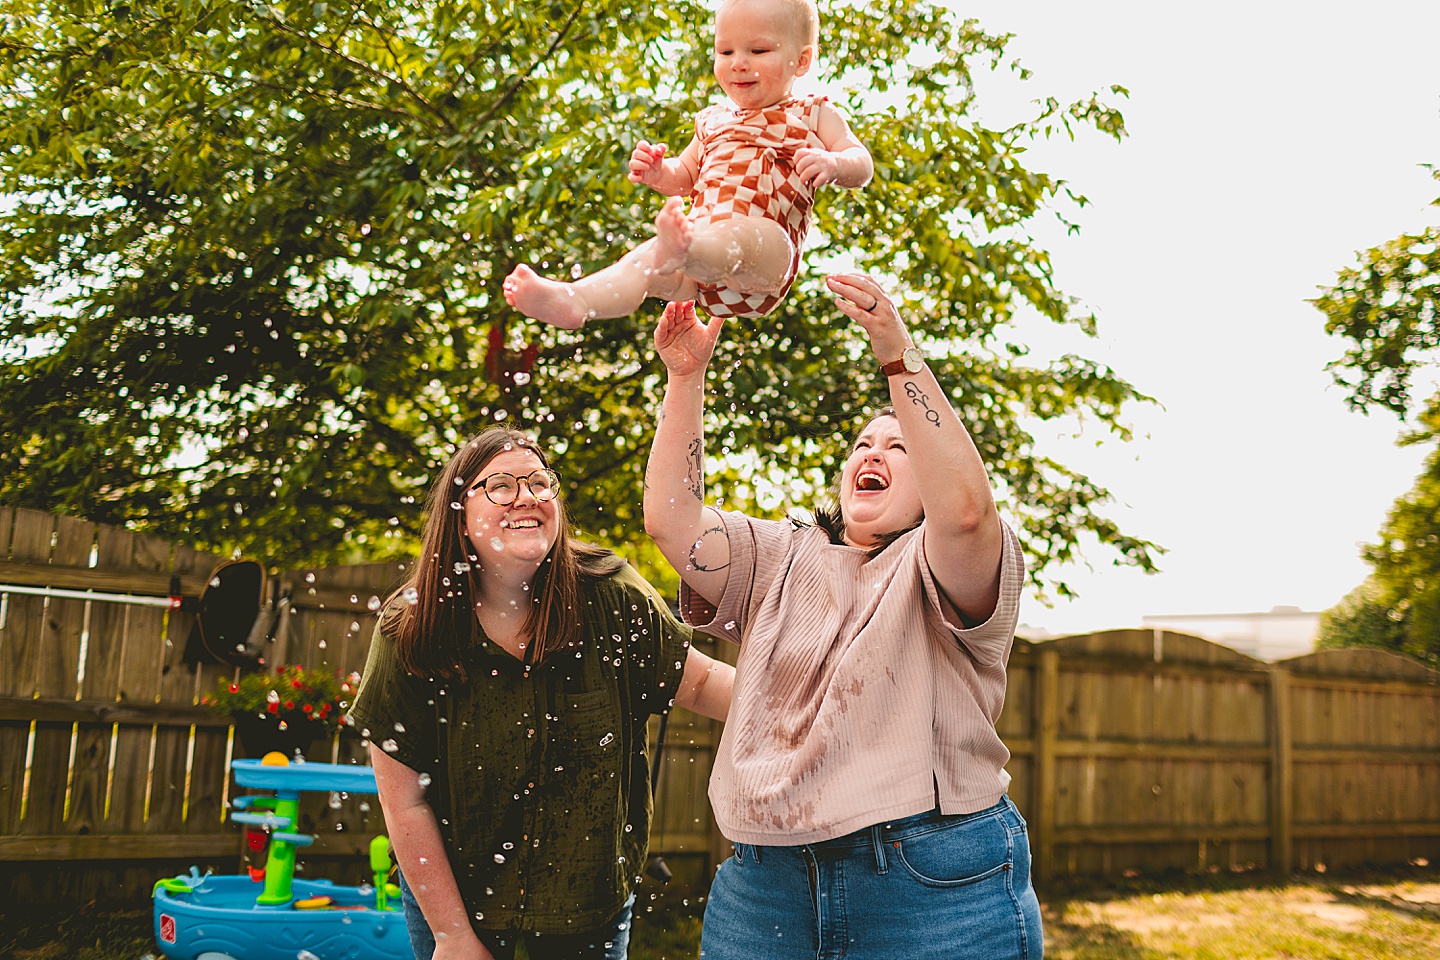
[(870, 151), (827, 98), (791, 96), (818, 37), (814, 0), (721, 0), (714, 73), (730, 102), (700, 111), (678, 157), (645, 141), (631, 154), (629, 178), (671, 197), (655, 236), (573, 284), (517, 266), (505, 301), (569, 330), (629, 315), (648, 296), (694, 299), (717, 317), (775, 309), (799, 269), (815, 187), (861, 187), (874, 173)]

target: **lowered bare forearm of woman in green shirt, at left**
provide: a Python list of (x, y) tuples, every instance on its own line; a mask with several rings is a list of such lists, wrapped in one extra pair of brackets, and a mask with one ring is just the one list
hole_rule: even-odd
[(469, 925), (469, 914), (455, 884), (435, 810), (425, 802), (419, 774), (374, 744), (370, 744), (370, 766), (374, 767), (376, 792), (395, 858), (425, 914), (425, 923), (435, 934), (435, 960), (494, 960)]

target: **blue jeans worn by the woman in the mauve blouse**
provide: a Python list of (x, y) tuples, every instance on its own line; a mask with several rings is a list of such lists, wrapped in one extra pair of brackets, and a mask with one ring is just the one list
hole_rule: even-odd
[(710, 885), (704, 960), (1041, 960), (1030, 839), (1009, 797), (801, 846), (736, 843)]

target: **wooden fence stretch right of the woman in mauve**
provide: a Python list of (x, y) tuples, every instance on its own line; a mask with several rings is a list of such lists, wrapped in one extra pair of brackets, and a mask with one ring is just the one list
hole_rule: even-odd
[(1017, 642), (999, 730), (1035, 874), (1323, 869), (1440, 855), (1440, 674), (1200, 638)]

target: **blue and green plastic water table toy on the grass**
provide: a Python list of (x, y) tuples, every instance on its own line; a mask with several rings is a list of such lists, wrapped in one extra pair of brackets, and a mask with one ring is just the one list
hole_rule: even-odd
[(300, 794), (374, 793), (374, 770), (336, 763), (291, 763), (285, 754), (235, 760), (235, 782), (271, 790), (235, 797), (230, 819), (246, 828), (251, 853), (268, 848), (248, 874), (171, 877), (156, 884), (156, 943), (170, 960), (415, 960), (387, 882), (390, 842), (370, 842), (374, 885), (295, 879), (295, 851), (315, 838), (294, 830)]

